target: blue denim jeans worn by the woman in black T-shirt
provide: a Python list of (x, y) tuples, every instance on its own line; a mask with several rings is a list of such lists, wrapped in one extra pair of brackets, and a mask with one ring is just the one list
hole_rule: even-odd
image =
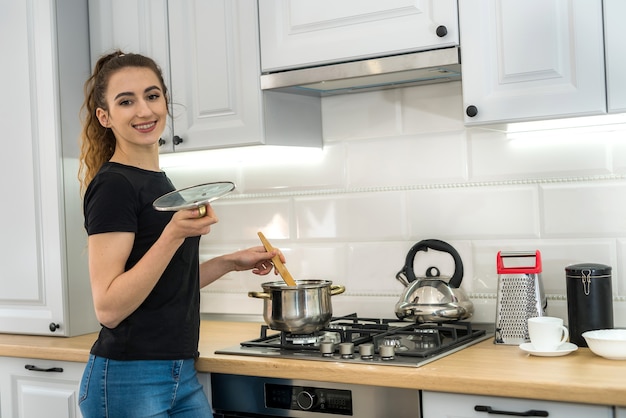
[(84, 418), (212, 418), (194, 360), (89, 356), (78, 405)]

